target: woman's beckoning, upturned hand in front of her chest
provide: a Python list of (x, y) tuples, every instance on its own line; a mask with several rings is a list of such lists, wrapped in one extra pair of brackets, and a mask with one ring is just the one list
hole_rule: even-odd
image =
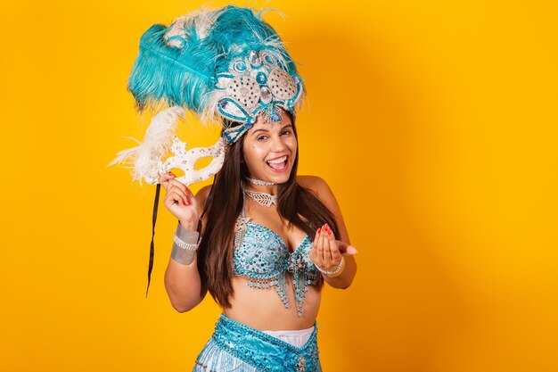
[(325, 224), (316, 231), (316, 238), (312, 244), (309, 258), (316, 266), (331, 270), (341, 263), (343, 253), (356, 254), (357, 250), (350, 244), (335, 240), (332, 229)]

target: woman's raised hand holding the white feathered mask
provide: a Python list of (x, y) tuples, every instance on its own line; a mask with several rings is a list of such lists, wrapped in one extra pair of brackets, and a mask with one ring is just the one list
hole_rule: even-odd
[(159, 178), (161, 186), (165, 187), (165, 207), (179, 221), (183, 227), (195, 231), (198, 227), (198, 202), (188, 187), (177, 181), (173, 172), (163, 174)]

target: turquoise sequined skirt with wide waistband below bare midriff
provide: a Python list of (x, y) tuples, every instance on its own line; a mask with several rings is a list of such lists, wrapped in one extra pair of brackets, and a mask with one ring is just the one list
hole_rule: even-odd
[(221, 314), (193, 372), (321, 372), (316, 334), (299, 348)]

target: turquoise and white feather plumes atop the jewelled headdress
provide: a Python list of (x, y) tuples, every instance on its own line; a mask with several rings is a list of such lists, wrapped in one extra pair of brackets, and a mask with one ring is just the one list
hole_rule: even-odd
[[(300, 79), (281, 38), (261, 20), (261, 14), (228, 5), (194, 15), (184, 26), (176, 23), (179, 19), (168, 27), (156, 24), (147, 29), (128, 78), (128, 90), (138, 109), (143, 111), (164, 102), (201, 114), (216, 89), (217, 74), (227, 72), (234, 58), (245, 56), (250, 50), (269, 50), (282, 62), (283, 70)], [(215, 21), (204, 35), (199, 35), (196, 22), (207, 22), (208, 15)], [(165, 37), (177, 27), (179, 35), (174, 32)]]

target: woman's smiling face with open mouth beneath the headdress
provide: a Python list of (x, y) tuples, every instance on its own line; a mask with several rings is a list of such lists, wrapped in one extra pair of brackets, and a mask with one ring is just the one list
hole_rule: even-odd
[[(272, 123), (272, 124), (270, 124)], [(258, 116), (244, 136), (243, 155), (250, 178), (287, 182), (297, 153), (297, 138), (291, 118), (283, 112), (279, 122), (265, 123)]]

